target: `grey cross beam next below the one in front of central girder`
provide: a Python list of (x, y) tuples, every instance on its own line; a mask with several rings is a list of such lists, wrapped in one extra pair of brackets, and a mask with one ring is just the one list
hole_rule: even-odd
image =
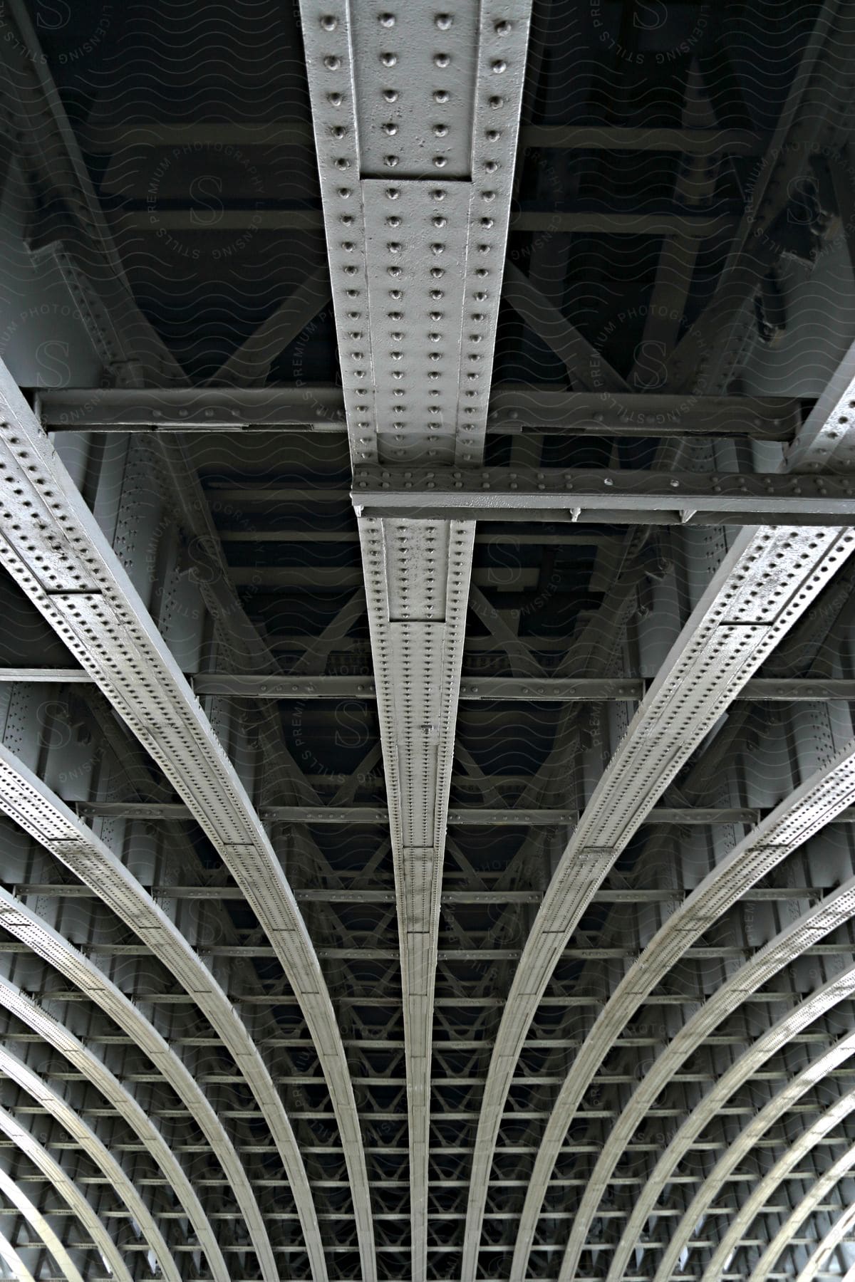
[[(187, 673), (197, 695), (229, 695), (237, 699), (361, 699), (374, 700), (377, 691), (368, 676), (270, 676), (258, 673)], [(82, 668), (0, 668), (0, 682), (45, 682), (83, 685), (91, 677)], [(460, 699), (497, 703), (638, 703), (647, 683), (643, 678), (619, 677), (467, 677)], [(855, 681), (829, 677), (751, 677), (736, 696), (740, 703), (822, 703), (855, 700)], [(691, 823), (691, 819), (682, 820)], [(706, 822), (706, 820), (697, 820)], [(728, 820), (729, 822), (729, 820)]]

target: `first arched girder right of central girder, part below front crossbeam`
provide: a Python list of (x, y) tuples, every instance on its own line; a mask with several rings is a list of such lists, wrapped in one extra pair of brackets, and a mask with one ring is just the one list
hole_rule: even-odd
[(477, 1272), (490, 1170), (514, 1068), (533, 1011), (582, 914), (656, 799), (851, 551), (842, 529), (743, 531), (600, 778), (546, 888), (502, 1010), (478, 1120), (465, 1278)]

